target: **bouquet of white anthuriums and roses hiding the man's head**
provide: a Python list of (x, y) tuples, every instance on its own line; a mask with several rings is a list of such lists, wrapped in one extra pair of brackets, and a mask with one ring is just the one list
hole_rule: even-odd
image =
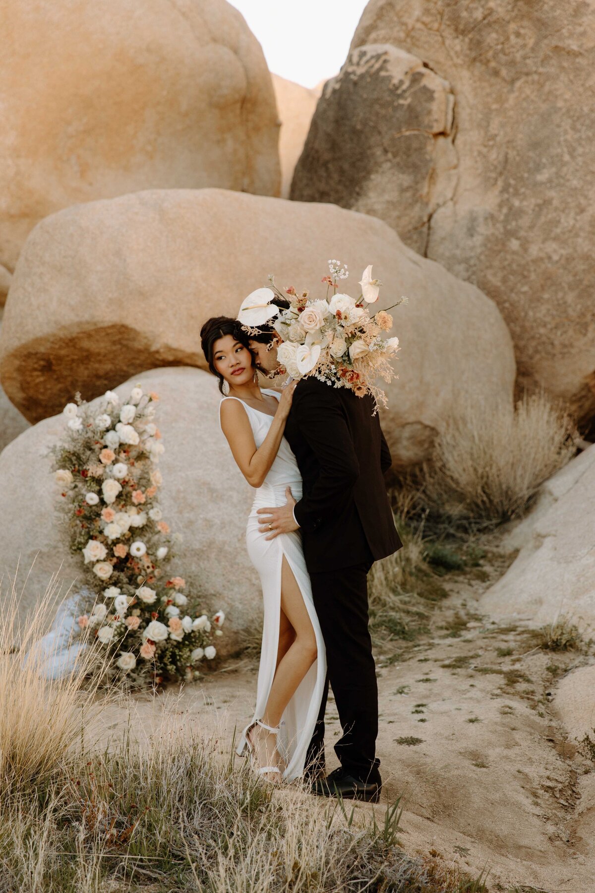
[[(261, 325), (273, 324), (283, 344), (277, 347), (281, 363), (279, 372), (293, 379), (313, 375), (335, 388), (351, 388), (356, 396), (371, 394), (386, 405), (384, 391), (374, 380), (390, 382), (396, 377), (392, 359), (399, 350), (399, 338), (383, 338), (393, 328), (393, 317), (386, 310), (370, 315), (369, 306), (376, 303), (382, 282), (372, 278), (371, 264), (359, 281), (358, 299), (338, 292), (339, 281), (349, 276), (347, 264), (328, 262), (329, 275), (322, 279), (326, 296), (310, 298), (308, 291), (298, 293), (293, 286), (285, 294), (269, 276), (270, 288), (257, 288), (240, 308), (238, 320), (249, 335), (257, 334)], [(329, 292), (332, 296), (329, 299)], [(283, 298), (289, 307), (278, 307), (271, 301)], [(407, 303), (406, 297), (389, 307), (392, 310)]]

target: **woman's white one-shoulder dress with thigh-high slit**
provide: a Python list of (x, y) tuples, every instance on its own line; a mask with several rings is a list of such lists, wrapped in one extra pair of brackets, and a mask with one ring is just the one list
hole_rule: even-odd
[[(263, 389), (263, 393), (275, 396), (277, 400), (280, 396), (277, 391), (269, 389)], [(238, 398), (224, 397), (223, 399), (237, 400)], [(257, 447), (260, 447), (267, 436), (273, 417), (267, 413), (260, 413), (259, 410), (253, 409), (252, 406), (244, 403), (243, 400), (239, 400), (239, 402), (244, 405), (250, 420), (254, 442)], [(221, 400), (221, 403), (223, 403), (223, 400)], [(299, 500), (302, 497), (302, 476), (298, 470), (291, 447), (285, 438), (282, 438), (269, 474), (262, 486), (255, 492), (246, 528), (248, 555), (260, 574), (260, 582), (262, 584), (264, 624), (256, 692), (256, 709), (252, 722), (248, 723), (242, 733), (236, 753), (238, 755), (245, 754), (247, 749), (246, 731), (253, 722), (262, 718), (275, 676), (281, 612), (281, 565), (285, 555), (285, 559), (302, 592), (304, 604), (316, 633), (318, 647), (317, 660), (302, 679), (298, 689), (286, 706), (279, 723), (280, 731), (277, 738), (277, 747), (286, 764), (283, 777), (285, 781), (292, 781), (302, 775), (306, 751), (314, 732), (325, 684), (326, 655), (324, 639), (322, 638), (318, 616), (312, 601), (310, 576), (306, 570), (302, 550), (302, 537), (299, 530), (293, 533), (282, 533), (274, 539), (267, 539), (266, 534), (260, 533), (259, 530), (257, 509), (271, 505), (285, 505), (285, 488), (287, 486), (292, 488), (295, 499)]]

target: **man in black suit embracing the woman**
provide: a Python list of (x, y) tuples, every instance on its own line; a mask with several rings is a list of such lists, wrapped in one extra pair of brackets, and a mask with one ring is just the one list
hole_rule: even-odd
[[(265, 373), (277, 371), (281, 338), (269, 324), (259, 329), (250, 338), (256, 365)], [(402, 544), (384, 485), (391, 454), (374, 409), (369, 395), (359, 397), (351, 388), (332, 388), (314, 377), (301, 380), (285, 438), (302, 474), (303, 496), (259, 513), (260, 530), (269, 538), (302, 530), (325, 639), (328, 676), (307, 757), (312, 792), (377, 802), (382, 788), (376, 758), (378, 689), (368, 632), (367, 576), (375, 561)], [(335, 744), (341, 767), (325, 778), (329, 680), (343, 737)]]

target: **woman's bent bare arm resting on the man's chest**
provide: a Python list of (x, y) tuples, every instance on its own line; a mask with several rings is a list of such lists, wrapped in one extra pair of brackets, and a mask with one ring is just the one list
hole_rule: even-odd
[(285, 421), (292, 405), (295, 384), (285, 388), (269, 432), (258, 448), (254, 443), (252, 426), (244, 405), (237, 400), (224, 400), (221, 404), (221, 429), (227, 438), (237, 467), (251, 487), (260, 487), (275, 461), (285, 431)]

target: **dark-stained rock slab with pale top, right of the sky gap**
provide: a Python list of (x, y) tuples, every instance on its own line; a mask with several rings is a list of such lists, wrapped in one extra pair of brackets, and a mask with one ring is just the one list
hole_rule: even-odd
[(326, 82), (292, 198), (373, 214), (426, 254), (429, 221), (456, 184), (453, 113), (448, 82), (416, 56), (358, 46)]

